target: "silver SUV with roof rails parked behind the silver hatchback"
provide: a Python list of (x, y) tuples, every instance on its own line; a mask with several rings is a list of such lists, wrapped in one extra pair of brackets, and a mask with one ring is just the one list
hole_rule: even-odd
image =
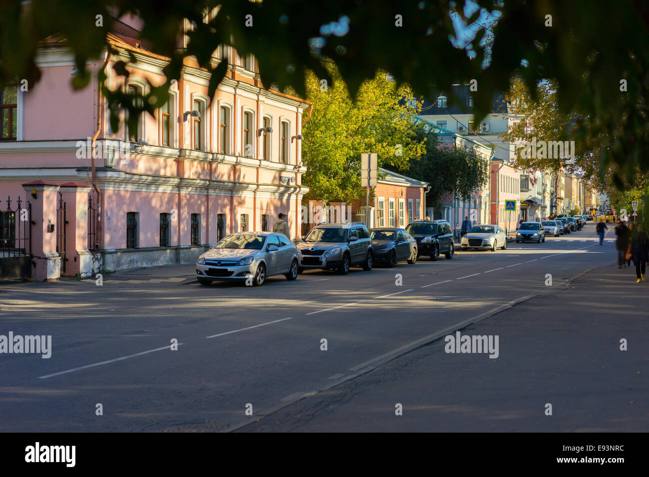
[(353, 265), (372, 270), (374, 250), (363, 222), (319, 224), (297, 244), (297, 259), (300, 273), (305, 268), (324, 268), (347, 275)]

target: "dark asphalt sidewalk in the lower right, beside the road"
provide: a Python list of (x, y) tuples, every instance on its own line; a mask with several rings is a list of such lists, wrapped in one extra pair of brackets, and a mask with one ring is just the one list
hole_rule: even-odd
[(611, 261), (461, 330), (499, 336), (496, 359), (440, 339), (242, 431), (646, 432), (648, 310), (649, 281)]

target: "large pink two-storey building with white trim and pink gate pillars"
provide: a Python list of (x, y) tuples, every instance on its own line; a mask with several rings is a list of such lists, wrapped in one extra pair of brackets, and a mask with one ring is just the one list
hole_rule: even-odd
[[(291, 238), (299, 237), (308, 191), (300, 134), (310, 104), (265, 89), (254, 58), (225, 47), (213, 58), (230, 63), (214, 98), (206, 71), (186, 59), (154, 117), (142, 115), (136, 130), (124, 123), (111, 130), (97, 88), (104, 60), (109, 89), (140, 93), (147, 80), (164, 83), (168, 62), (140, 44), (136, 21), (122, 21), (108, 36), (116, 53), (88, 65), (90, 86), (72, 89), (71, 51), (63, 38), (49, 38), (38, 51), (40, 82), (0, 91), (10, 115), (0, 135), (0, 189), (12, 200), (0, 204), (3, 256), (31, 255), (31, 277), (53, 279), (192, 262), (228, 233), (272, 229), (278, 213), (288, 214)], [(127, 62), (127, 80), (112, 69), (119, 61)], [(35, 222), (20, 244), (18, 198), (22, 209), (30, 202)]]

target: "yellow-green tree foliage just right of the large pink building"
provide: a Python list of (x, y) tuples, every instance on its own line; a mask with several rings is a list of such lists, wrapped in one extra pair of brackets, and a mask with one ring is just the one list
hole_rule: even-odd
[(363, 82), (352, 101), (334, 65), (327, 67), (333, 84), (312, 72), (306, 77), (306, 99), (313, 110), (302, 130), (303, 183), (310, 188), (308, 197), (350, 202), (365, 194), (361, 153), (375, 152), (378, 167), (402, 169), (426, 150), (424, 139), (413, 131), (420, 105), (408, 101), (408, 87), (386, 81), (385, 72)]

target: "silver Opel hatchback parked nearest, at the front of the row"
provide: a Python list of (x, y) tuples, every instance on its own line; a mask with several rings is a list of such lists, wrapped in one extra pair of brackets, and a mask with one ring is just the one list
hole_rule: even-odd
[(267, 277), (297, 278), (297, 248), (286, 235), (271, 232), (231, 233), (196, 262), (196, 278), (201, 285), (212, 281), (245, 281), (261, 286)]

